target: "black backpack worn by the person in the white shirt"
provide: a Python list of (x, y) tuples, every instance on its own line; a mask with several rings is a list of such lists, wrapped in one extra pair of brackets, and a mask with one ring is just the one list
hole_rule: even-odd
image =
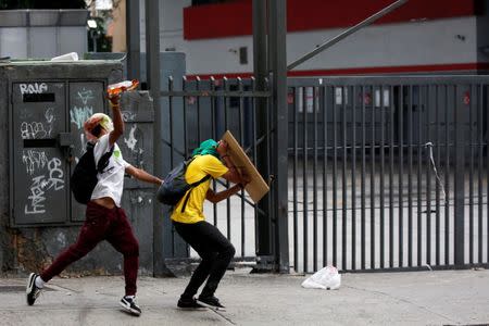
[(93, 143), (87, 142), (87, 151), (79, 158), (72, 177), (70, 178), (73, 196), (76, 201), (82, 204), (87, 204), (90, 201), (91, 193), (98, 183), (97, 174), (103, 172), (114, 151), (114, 147), (112, 146), (111, 150), (100, 158), (99, 163), (96, 166), (93, 148)]

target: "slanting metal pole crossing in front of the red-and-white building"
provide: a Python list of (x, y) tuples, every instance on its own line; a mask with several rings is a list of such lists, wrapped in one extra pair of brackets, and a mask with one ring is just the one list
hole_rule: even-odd
[(394, 11), (396, 9), (398, 9), (399, 7), (401, 7), (402, 4), (406, 3), (408, 0), (398, 0), (394, 3), (384, 8), (383, 10), (380, 10), (379, 12), (377, 12), (376, 14), (369, 16), (368, 18), (366, 18), (365, 21), (356, 24), (353, 27), (348, 28), (347, 30), (344, 30), (343, 33), (335, 36), (334, 38), (331, 38), (330, 40), (326, 41), (325, 43), (321, 45), (319, 47), (317, 47), (316, 49), (314, 49), (313, 51), (304, 54), (303, 57), (299, 58), (298, 60), (293, 61), (291, 64), (289, 64), (287, 66), (288, 71), (293, 70), (294, 67), (297, 67), (298, 65), (300, 65), (301, 63), (310, 60), (311, 58), (315, 57), (316, 54), (323, 52), (324, 50), (333, 47), (334, 45), (336, 45), (337, 42), (339, 42), (340, 40), (342, 40), (343, 38), (347, 38), (348, 36), (352, 35), (353, 33), (355, 33), (356, 30), (371, 25), (372, 23), (374, 23), (375, 21), (377, 21), (378, 18), (387, 15), (388, 13)]

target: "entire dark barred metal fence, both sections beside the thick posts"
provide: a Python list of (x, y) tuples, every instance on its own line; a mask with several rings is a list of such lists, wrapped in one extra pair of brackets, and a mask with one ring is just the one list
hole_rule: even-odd
[[(165, 171), (230, 129), (253, 162), (266, 156), (269, 176), (278, 154), (271, 93), (253, 79), (177, 83), (162, 92)], [(487, 266), (489, 77), (289, 78), (288, 86), (291, 268)], [(241, 193), (206, 204), (205, 214), (238, 260), (260, 264), (260, 241), (277, 236), (260, 227), (273, 220), (271, 202), (258, 206)], [(167, 258), (196, 255), (175, 233), (165, 237)]]

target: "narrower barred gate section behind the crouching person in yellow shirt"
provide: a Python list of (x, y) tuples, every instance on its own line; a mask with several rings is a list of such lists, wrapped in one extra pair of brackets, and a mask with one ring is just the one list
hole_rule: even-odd
[[(269, 126), (269, 93), (256, 91), (253, 79), (209, 79), (174, 80), (163, 83), (161, 92), (163, 118), (164, 168), (167, 173), (176, 164), (191, 155), (191, 152), (205, 139), (221, 139), (230, 130), (246, 149), (253, 162), (259, 151), (269, 153), (269, 130), (259, 130), (258, 115), (266, 120)], [(258, 99), (264, 99), (265, 105), (260, 111)], [(268, 164), (269, 166), (269, 164)], [(265, 172), (266, 174), (266, 172)], [(213, 181), (216, 191), (229, 185), (222, 180)], [(171, 268), (177, 268), (181, 260), (198, 258), (176, 234), (170, 221), (170, 210), (164, 211), (163, 254)], [(255, 205), (244, 191), (226, 201), (212, 204), (204, 203), (204, 215), (227, 236), (236, 248), (235, 260), (254, 261), (260, 247), (256, 235), (258, 221), (269, 218), (266, 210)], [(267, 237), (269, 238), (269, 237)]]

